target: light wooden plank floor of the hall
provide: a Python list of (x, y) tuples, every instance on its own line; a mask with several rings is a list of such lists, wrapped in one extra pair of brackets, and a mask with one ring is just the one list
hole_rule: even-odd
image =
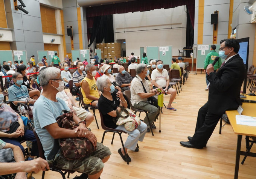
[[(180, 145), (180, 141), (187, 141), (195, 130), (198, 109), (208, 99), (205, 74), (190, 74), (180, 95), (176, 96), (173, 106), (177, 111), (163, 109), (162, 132), (159, 133), (159, 120), (155, 123), (155, 136), (146, 133), (143, 142), (139, 142), (139, 152), (128, 150), (131, 157), (129, 165), (123, 161), (117, 150), (121, 147), (116, 135), (111, 145), (111, 133), (105, 135), (104, 145), (108, 146), (112, 155), (105, 163), (101, 179), (232, 179), (235, 171), (235, 156), (237, 135), (227, 124), (219, 134), (219, 124), (204, 149), (190, 149)], [(168, 104), (169, 95), (165, 95), (165, 104)], [(92, 111), (91, 111), (92, 112)], [(100, 116), (96, 111), (99, 126)], [(145, 114), (141, 115), (143, 119)], [(90, 128), (101, 141), (103, 129), (97, 129), (93, 122)], [(122, 135), (123, 140), (127, 138)], [(242, 149), (245, 149), (245, 139), (242, 139)], [(252, 147), (256, 152), (256, 146)], [(240, 159), (240, 162), (242, 157)], [(76, 174), (70, 174), (70, 178)], [(36, 179), (41, 178), (41, 172), (33, 174)], [(61, 179), (57, 172), (47, 171), (45, 179)], [(256, 158), (247, 157), (244, 165), (240, 164), (239, 179), (256, 178)]]

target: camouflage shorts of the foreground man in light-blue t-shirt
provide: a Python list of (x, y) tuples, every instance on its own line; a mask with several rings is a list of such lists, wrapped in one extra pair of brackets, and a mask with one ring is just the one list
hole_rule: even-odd
[(97, 142), (97, 150), (84, 159), (67, 160), (61, 154), (55, 159), (53, 165), (58, 168), (78, 171), (87, 174), (96, 174), (102, 170), (104, 163), (101, 159), (111, 155), (110, 149)]

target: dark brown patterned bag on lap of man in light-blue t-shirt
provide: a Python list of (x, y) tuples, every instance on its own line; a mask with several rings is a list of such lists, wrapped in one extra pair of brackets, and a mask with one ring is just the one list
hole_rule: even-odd
[[(76, 125), (76, 123), (73, 121), (73, 113), (71, 111), (62, 110), (62, 115), (58, 116), (56, 121), (60, 128), (73, 130), (78, 127), (78, 125)], [(59, 139), (55, 140), (59, 141)], [(56, 146), (58, 144), (59, 146)], [(61, 138), (59, 143), (54, 143), (53, 149), (50, 153), (51, 155), (49, 154), (50, 157), (47, 157), (48, 160), (55, 157), (55, 155), (58, 153), (57, 149), (59, 147), (62, 156), (64, 156), (64, 158), (67, 160), (83, 159), (93, 153), (95, 150), (93, 144), (90, 140), (88, 140), (88, 138)]]

